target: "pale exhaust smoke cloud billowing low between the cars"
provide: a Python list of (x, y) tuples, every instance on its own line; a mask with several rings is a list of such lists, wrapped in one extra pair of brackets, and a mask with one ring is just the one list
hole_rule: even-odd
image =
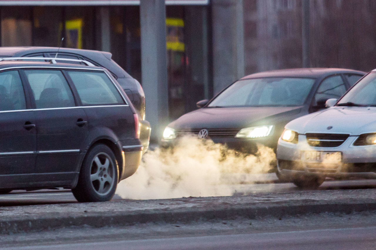
[(275, 160), (273, 149), (263, 145), (255, 155), (245, 155), (211, 140), (183, 137), (174, 148), (148, 151), (116, 193), (123, 199), (230, 196), (235, 190), (226, 175), (267, 173)]

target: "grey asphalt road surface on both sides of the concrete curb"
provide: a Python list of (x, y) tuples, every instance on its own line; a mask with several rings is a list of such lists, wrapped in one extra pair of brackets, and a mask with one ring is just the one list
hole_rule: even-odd
[[(296, 193), (295, 196), (312, 193), (290, 183), (231, 185), (237, 190), (235, 196), (280, 193), (290, 197), (292, 193)], [(355, 189), (374, 188), (376, 180), (347, 180), (326, 181), (319, 190), (350, 189), (354, 192)], [(120, 199), (115, 195), (113, 200)], [(0, 206), (55, 203), (76, 203), (76, 200), (70, 190), (63, 189), (12, 191), (0, 196)], [(18, 209), (24, 211), (22, 207)], [(188, 224), (150, 222), (123, 227), (67, 227), (48, 232), (0, 235), (0, 242), (3, 242), (0, 249), (376, 249), (374, 221), (376, 214), (364, 212), (193, 221)]]

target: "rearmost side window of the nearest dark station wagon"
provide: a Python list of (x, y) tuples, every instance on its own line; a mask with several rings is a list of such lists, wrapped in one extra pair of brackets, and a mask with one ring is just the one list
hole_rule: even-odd
[(125, 104), (105, 72), (68, 71), (83, 105)]

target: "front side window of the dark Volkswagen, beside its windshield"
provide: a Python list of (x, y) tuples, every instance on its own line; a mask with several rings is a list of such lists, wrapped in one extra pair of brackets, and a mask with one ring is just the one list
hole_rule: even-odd
[(339, 99), (346, 92), (346, 86), (340, 75), (325, 78), (318, 87), (313, 106), (321, 106), (327, 99)]

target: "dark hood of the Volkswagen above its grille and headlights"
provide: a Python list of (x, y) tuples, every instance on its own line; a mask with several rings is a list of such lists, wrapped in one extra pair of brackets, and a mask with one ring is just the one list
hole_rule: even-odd
[[(184, 114), (168, 126), (182, 128), (245, 128), (257, 125), (273, 125), (281, 117), (289, 119), (302, 107), (231, 107), (200, 108)], [(292, 120), (291, 118), (290, 120)], [(288, 121), (290, 121), (288, 120)], [(268, 123), (268, 124), (266, 124)]]

